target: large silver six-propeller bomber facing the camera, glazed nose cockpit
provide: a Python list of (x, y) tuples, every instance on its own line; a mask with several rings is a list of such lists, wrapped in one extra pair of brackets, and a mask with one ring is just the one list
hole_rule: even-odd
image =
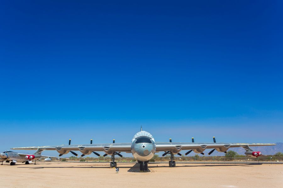
[(11, 148), (11, 149), (37, 149), (40, 151), (44, 150), (57, 150), (62, 156), (63, 154), (68, 154), (71, 152), (76, 155), (74, 150), (80, 151), (83, 153), (81, 156), (89, 155), (91, 153), (100, 156), (96, 151), (104, 151), (106, 154), (103, 156), (111, 155), (112, 162), (110, 167), (116, 167), (117, 163), (115, 162), (115, 155), (119, 155), (121, 152), (132, 153), (134, 158), (137, 159), (140, 164), (141, 171), (147, 171), (147, 163), (157, 152), (164, 151), (165, 153), (162, 156), (170, 154), (169, 167), (175, 167), (176, 163), (174, 161), (174, 154), (180, 154), (181, 150), (189, 150), (185, 155), (189, 154), (191, 151), (195, 153), (203, 154), (205, 149), (212, 149), (208, 154), (210, 155), (214, 150), (219, 152), (225, 152), (229, 148), (241, 147), (246, 150), (246, 155), (252, 157), (261, 156), (262, 153), (258, 151), (253, 151), (250, 146), (270, 146), (276, 144), (234, 144), (234, 143), (216, 143), (215, 138), (213, 137), (214, 143), (195, 143), (194, 138), (192, 142), (172, 142), (170, 139), (169, 142), (155, 142), (153, 136), (146, 132), (141, 131), (136, 133), (131, 143), (113, 143), (110, 144), (84, 144), (84, 145), (58, 145), (58, 146), (35, 146), (35, 147), (20, 147), (20, 148)]

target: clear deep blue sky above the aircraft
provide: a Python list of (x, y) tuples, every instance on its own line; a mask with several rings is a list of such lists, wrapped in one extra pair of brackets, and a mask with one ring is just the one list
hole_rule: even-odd
[[(282, 142), (282, 1), (3, 1), (0, 150)], [(57, 153), (54, 153), (57, 155)]]

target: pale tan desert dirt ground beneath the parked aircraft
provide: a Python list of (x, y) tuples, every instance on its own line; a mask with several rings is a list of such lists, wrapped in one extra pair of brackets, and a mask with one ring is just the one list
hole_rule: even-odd
[(38, 162), (0, 165), (2, 187), (283, 187), (283, 165), (149, 164)]

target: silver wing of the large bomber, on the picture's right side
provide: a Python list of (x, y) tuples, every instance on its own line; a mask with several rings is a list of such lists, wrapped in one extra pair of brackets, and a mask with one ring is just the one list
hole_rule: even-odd
[(192, 149), (196, 153), (201, 153), (205, 149), (216, 149), (219, 152), (227, 151), (229, 148), (249, 146), (271, 146), (276, 144), (244, 144), (244, 143), (192, 143), (192, 142), (156, 142), (156, 151), (172, 151), (178, 153), (181, 150)]

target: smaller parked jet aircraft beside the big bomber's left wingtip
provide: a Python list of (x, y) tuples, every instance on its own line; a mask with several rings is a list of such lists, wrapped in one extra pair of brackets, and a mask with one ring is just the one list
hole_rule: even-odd
[(16, 162), (25, 163), (26, 165), (28, 165), (31, 163), (31, 161), (34, 161), (34, 164), (36, 164), (36, 160), (38, 160), (41, 157), (46, 157), (46, 159), (44, 159), (45, 161), (51, 161), (52, 158), (55, 158), (56, 160), (59, 161), (61, 159), (69, 159), (63, 157), (43, 156), (41, 155), (41, 152), (42, 151), (38, 149), (34, 154), (31, 155), (31, 154), (19, 154), (11, 150), (6, 150), (0, 153), (0, 162), (2, 162), (1, 165), (3, 165), (3, 161), (6, 161), (7, 163), (11, 161), (10, 165), (16, 165)]

